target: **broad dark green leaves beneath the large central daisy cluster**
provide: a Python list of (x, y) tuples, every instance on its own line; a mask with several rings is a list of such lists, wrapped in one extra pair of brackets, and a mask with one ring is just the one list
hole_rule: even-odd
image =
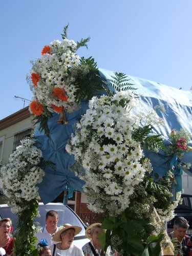
[(160, 253), (162, 234), (152, 236), (148, 225), (152, 225), (150, 219), (134, 219), (127, 208), (118, 217), (104, 218), (102, 228), (107, 231), (99, 235), (99, 241), (103, 250), (111, 245), (117, 251), (124, 251), (123, 255), (157, 256)]

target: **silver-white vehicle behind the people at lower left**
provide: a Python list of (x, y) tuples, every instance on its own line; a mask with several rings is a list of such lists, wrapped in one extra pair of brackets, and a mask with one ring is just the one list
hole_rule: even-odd
[[(87, 226), (82, 222), (82, 220), (78, 217), (78, 215), (67, 205), (63, 205), (62, 203), (49, 203), (49, 204), (43, 204), (39, 203), (39, 217), (35, 218), (35, 222), (40, 226), (45, 226), (45, 218), (46, 213), (49, 210), (56, 210), (59, 215), (59, 221), (57, 223), (57, 226), (62, 226), (64, 224), (71, 224), (75, 226), (80, 226), (82, 228), (81, 232), (77, 234), (77, 236), (74, 238), (74, 244), (76, 244), (79, 247), (82, 247), (82, 245), (88, 243), (90, 240), (86, 238), (85, 236), (85, 230)], [(0, 219), (3, 218), (10, 218), (12, 220), (13, 228), (16, 228), (17, 223), (17, 215), (13, 214), (11, 212), (10, 206), (7, 204), (0, 204)]]

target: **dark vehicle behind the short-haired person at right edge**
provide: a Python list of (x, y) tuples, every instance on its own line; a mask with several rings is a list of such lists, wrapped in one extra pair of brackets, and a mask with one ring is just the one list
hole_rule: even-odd
[(177, 208), (175, 209), (175, 218), (167, 222), (167, 232), (173, 231), (174, 220), (177, 217), (183, 217), (188, 221), (189, 224), (189, 228), (186, 233), (192, 234), (192, 195), (182, 194), (181, 197), (183, 202), (182, 204), (178, 204)]

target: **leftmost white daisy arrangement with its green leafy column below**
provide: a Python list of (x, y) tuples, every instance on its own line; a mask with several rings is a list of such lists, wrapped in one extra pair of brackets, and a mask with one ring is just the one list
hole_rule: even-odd
[[(15, 255), (38, 255), (33, 218), (38, 216), (38, 187), (44, 177), (43, 168), (51, 165), (44, 161), (42, 151), (34, 139), (25, 138), (13, 152), (7, 164), (1, 168), (0, 185), (7, 197), (11, 211), (18, 216)], [(26, 254), (27, 253), (27, 254)]]

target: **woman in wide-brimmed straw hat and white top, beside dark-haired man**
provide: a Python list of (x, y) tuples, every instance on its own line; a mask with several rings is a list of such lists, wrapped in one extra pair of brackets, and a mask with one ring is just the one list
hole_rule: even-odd
[(53, 241), (59, 243), (51, 246), (52, 256), (84, 256), (81, 248), (73, 244), (74, 237), (81, 229), (81, 227), (72, 226), (71, 224), (59, 227), (59, 230), (53, 236)]

